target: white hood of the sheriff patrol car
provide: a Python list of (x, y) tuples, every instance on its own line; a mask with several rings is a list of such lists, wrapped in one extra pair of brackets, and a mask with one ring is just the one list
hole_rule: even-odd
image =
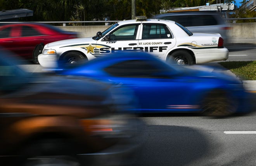
[[(92, 37), (89, 38), (76, 38), (76, 39), (67, 39), (67, 40), (60, 40), (60, 41), (55, 41), (52, 43), (48, 43), (46, 45), (47, 48), (54, 48), (54, 47), (62, 47), (62, 46), (69, 46), (69, 45), (74, 45), (74, 44), (84, 44), (88, 42), (94, 41)], [(97, 41), (95, 41), (96, 43)]]

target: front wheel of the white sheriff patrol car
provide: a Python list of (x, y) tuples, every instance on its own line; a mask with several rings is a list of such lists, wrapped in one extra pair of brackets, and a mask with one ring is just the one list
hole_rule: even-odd
[(78, 65), (88, 62), (87, 57), (79, 52), (69, 52), (64, 55), (62, 59), (64, 60), (64, 63), (68, 65)]

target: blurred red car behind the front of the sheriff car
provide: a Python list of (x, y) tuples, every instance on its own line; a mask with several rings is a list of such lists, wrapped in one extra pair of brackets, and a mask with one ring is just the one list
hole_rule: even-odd
[(38, 61), (37, 55), (33, 55), (33, 50), (37, 44), (42, 43), (43, 46), (54, 41), (73, 38), (78, 38), (77, 32), (63, 31), (48, 24), (16, 23), (0, 27), (0, 46), (22, 58), (28, 60), (33, 58), (35, 63)]

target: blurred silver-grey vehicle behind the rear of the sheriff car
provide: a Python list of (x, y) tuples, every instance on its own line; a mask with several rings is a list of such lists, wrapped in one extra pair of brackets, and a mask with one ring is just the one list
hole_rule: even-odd
[(172, 20), (185, 26), (192, 33), (219, 33), (228, 43), (230, 26), (218, 12), (171, 12), (158, 14), (154, 19)]

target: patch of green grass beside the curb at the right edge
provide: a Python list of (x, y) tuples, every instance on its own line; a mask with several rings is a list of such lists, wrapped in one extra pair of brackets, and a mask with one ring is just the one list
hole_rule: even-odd
[(241, 80), (256, 80), (256, 61), (219, 62)]

